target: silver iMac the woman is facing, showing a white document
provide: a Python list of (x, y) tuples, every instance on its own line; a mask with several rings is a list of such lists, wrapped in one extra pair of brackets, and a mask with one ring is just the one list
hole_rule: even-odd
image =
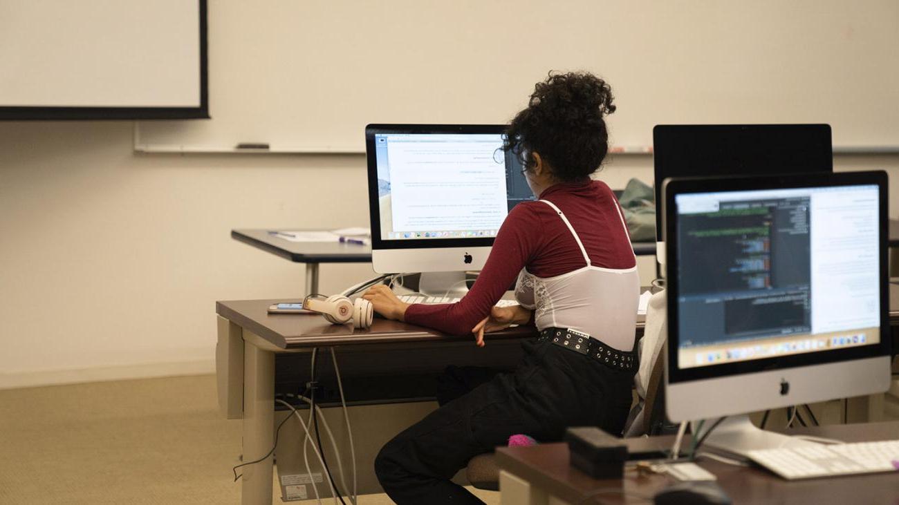
[(378, 273), (481, 270), (509, 211), (534, 199), (504, 125), (365, 128)]

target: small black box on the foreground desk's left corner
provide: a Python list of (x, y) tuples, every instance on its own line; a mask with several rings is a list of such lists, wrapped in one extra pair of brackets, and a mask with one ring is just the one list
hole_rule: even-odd
[(571, 465), (594, 479), (620, 479), (628, 459), (628, 446), (599, 428), (565, 430)]

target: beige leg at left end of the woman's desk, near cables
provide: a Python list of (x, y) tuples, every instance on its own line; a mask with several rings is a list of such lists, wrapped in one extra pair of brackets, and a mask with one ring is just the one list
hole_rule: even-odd
[[(274, 442), (275, 354), (244, 342), (244, 461), (271, 450)], [(241, 468), (244, 504), (271, 503), (271, 456)]]

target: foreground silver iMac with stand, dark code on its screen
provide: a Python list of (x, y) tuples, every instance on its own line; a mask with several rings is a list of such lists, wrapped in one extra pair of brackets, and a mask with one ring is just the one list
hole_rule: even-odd
[[(669, 419), (888, 389), (886, 193), (883, 172), (664, 182)], [(744, 415), (708, 439), (801, 444)]]

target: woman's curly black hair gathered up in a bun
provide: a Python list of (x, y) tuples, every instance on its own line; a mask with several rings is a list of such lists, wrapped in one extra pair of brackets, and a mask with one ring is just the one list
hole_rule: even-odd
[(530, 164), (538, 152), (560, 182), (583, 180), (609, 152), (605, 116), (616, 109), (609, 84), (588, 72), (555, 74), (534, 86), (528, 108), (509, 125), (504, 149)]

